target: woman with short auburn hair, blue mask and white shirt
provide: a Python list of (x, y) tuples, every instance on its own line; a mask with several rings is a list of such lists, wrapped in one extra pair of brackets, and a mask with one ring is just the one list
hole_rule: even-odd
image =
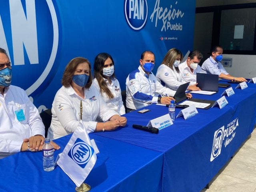
[[(85, 58), (72, 59), (65, 68), (62, 87), (52, 103), (52, 122), (48, 130), (50, 139), (74, 132), (80, 120), (88, 133), (115, 130), (126, 125), (126, 118), (108, 108), (98, 90), (92, 86), (90, 62)], [(99, 116), (104, 122), (95, 122)]]

